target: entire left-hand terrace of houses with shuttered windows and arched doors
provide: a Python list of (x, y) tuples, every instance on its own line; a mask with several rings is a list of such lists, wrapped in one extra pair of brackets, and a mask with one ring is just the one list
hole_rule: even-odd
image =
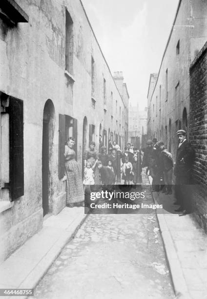
[(68, 137), (80, 169), (99, 134), (124, 146), (128, 98), (80, 0), (0, 1), (0, 262), (65, 207)]

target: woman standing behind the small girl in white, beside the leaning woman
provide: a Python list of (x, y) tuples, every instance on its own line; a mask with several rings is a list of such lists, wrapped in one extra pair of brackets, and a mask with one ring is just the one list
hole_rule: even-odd
[(84, 160), (84, 166), (86, 166), (87, 162), (90, 162), (93, 173), (94, 173), (94, 182), (95, 185), (100, 184), (100, 177), (99, 177), (99, 169), (97, 167), (97, 161), (99, 159), (99, 153), (95, 149), (95, 142), (91, 141), (89, 144), (89, 149), (86, 149), (83, 153), (83, 160)]

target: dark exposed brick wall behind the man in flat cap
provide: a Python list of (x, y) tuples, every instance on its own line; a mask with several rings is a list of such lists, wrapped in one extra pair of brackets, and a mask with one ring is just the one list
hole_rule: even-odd
[(189, 140), (196, 152), (193, 214), (207, 232), (207, 43), (190, 66)]

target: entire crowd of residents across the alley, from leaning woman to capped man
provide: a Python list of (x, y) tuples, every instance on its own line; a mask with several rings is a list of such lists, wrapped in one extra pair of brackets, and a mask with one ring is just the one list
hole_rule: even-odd
[[(103, 145), (100, 135), (99, 151), (96, 150), (95, 142), (90, 142), (89, 148), (83, 153), (84, 175), (79, 170), (75, 159), (73, 146), (75, 139), (70, 137), (65, 145), (65, 176), (66, 203), (83, 205), (84, 189), (86, 185), (114, 185), (117, 178), (118, 167), (122, 173), (124, 184), (137, 184), (138, 177), (141, 179), (142, 168), (146, 168), (146, 175), (152, 177), (152, 191), (161, 191), (172, 194), (172, 175), (175, 175), (176, 204), (180, 205), (176, 212), (189, 213), (189, 205), (185, 202), (182, 193), (182, 185), (190, 182), (190, 170), (194, 160), (194, 150), (186, 140), (186, 131), (178, 130), (179, 145), (174, 167), (172, 154), (166, 149), (163, 141), (147, 140), (145, 149), (137, 149), (128, 143), (121, 152), (116, 141), (108, 141), (108, 151)], [(118, 163), (118, 153), (121, 161)], [(139, 160), (138, 160), (139, 159)], [(139, 163), (138, 163), (139, 162)], [(139, 167), (138, 167), (139, 165)], [(139, 181), (141, 183), (141, 180)]]

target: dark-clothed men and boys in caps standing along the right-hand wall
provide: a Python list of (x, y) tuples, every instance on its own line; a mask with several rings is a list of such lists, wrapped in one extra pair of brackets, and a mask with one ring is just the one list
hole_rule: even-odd
[[(175, 212), (185, 215), (191, 212), (190, 198), (186, 198), (187, 187), (190, 184), (190, 174), (194, 161), (194, 149), (187, 142), (186, 131), (178, 130), (178, 149), (176, 162), (173, 163), (172, 154), (166, 149), (163, 141), (147, 140), (144, 149), (142, 167), (146, 167), (146, 174), (152, 177), (152, 191), (172, 194), (172, 175), (175, 175), (176, 205), (180, 205)], [(174, 171), (173, 171), (174, 168)]]

